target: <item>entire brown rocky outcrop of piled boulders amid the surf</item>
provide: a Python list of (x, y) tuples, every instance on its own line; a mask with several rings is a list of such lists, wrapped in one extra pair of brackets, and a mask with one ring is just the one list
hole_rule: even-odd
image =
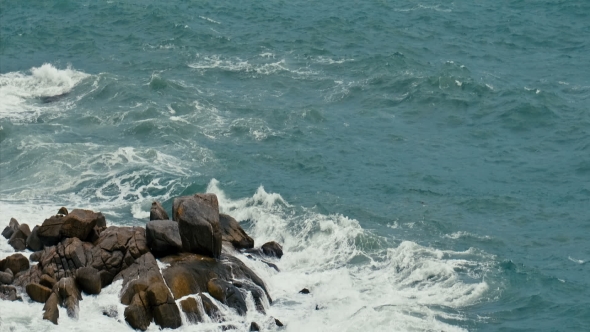
[[(11, 219), (2, 235), (15, 251), (33, 251), (29, 258), (36, 264), (21, 253), (0, 260), (0, 299), (22, 301), (19, 294), (26, 292), (45, 304), (43, 319), (58, 324), (58, 306), (76, 318), (83, 294), (100, 294), (121, 280), (125, 321), (138, 330), (152, 322), (172, 329), (183, 321), (222, 323), (219, 303), (239, 315), (248, 310), (265, 314), (272, 304), (268, 289), (235, 254), (276, 270), (271, 261), (283, 255), (276, 242), (255, 248), (235, 219), (219, 213), (214, 194), (175, 198), (172, 218), (153, 202), (145, 228), (107, 226), (100, 212), (62, 207), (32, 230)], [(248, 299), (254, 306), (247, 305)], [(250, 330), (258, 331), (258, 324), (251, 322)]]

